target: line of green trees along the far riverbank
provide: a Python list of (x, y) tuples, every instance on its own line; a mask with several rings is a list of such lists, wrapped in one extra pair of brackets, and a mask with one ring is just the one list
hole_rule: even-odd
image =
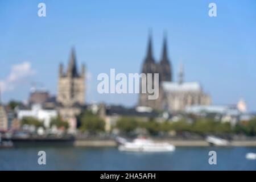
[[(22, 125), (34, 125), (36, 127), (44, 127), (43, 122), (38, 119), (25, 117), (22, 119)], [(64, 121), (60, 116), (51, 119), (50, 126), (57, 128), (68, 129), (67, 121)], [(77, 127), (81, 132), (97, 134), (105, 131), (105, 121), (92, 111), (84, 110), (77, 116)], [(123, 134), (132, 134), (135, 130), (146, 130), (149, 135), (158, 135), (159, 133), (170, 133), (175, 131), (177, 134), (184, 132), (204, 134), (243, 134), (248, 136), (256, 136), (256, 118), (250, 121), (240, 121), (235, 126), (231, 126), (229, 122), (221, 122), (213, 118), (198, 117), (190, 121), (187, 118), (181, 118), (179, 121), (158, 122), (151, 118), (148, 121), (142, 121), (136, 117), (120, 117), (112, 130), (118, 129)]]

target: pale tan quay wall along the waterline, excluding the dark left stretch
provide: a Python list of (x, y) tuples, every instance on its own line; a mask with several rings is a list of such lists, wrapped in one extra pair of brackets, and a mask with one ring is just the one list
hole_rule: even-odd
[[(210, 146), (205, 140), (155, 140), (155, 142), (168, 142), (176, 147), (207, 147)], [(115, 140), (76, 140), (75, 147), (116, 147)], [(233, 147), (256, 147), (256, 140), (233, 140)]]

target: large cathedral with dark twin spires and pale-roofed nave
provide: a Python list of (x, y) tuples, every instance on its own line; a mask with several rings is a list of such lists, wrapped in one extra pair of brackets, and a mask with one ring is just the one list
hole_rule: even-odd
[(168, 58), (166, 35), (164, 35), (163, 39), (162, 56), (160, 61), (156, 62), (152, 51), (152, 36), (150, 34), (146, 58), (142, 65), (142, 73), (152, 73), (153, 80), (154, 73), (159, 74), (159, 97), (156, 100), (148, 100), (149, 93), (140, 93), (138, 106), (176, 112), (185, 110), (187, 106), (210, 105), (210, 96), (204, 93), (199, 82), (183, 81), (184, 73), (182, 65), (180, 65), (179, 80), (177, 82), (174, 81), (171, 61)]

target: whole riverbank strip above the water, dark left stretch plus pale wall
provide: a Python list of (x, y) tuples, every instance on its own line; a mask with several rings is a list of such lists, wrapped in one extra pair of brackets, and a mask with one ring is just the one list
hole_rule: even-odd
[[(151, 138), (155, 142), (168, 142), (176, 147), (207, 147), (210, 144), (203, 138)], [(9, 139), (10, 140), (10, 139)], [(12, 138), (14, 147), (23, 146), (74, 146), (74, 147), (117, 147), (117, 142), (110, 137), (75, 138), (75, 137), (31, 137)], [(256, 147), (256, 138), (236, 138), (230, 141), (233, 147)]]

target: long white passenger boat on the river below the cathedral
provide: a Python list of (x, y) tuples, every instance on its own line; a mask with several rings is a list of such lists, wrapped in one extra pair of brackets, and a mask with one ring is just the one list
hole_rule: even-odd
[(171, 152), (175, 146), (167, 142), (153, 142), (149, 139), (134, 139), (133, 142), (125, 142), (118, 147), (119, 151), (129, 152)]

